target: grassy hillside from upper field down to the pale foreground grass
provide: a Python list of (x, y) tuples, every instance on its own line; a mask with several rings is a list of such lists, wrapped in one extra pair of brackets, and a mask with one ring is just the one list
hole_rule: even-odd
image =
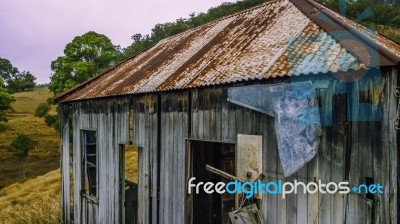
[[(15, 111), (8, 114), (7, 123), (0, 124), (0, 190), (59, 167), (59, 136), (42, 118), (33, 115), (37, 105), (50, 96), (47, 88), (15, 94)], [(17, 134), (29, 135), (37, 142), (26, 161), (15, 158), (7, 150)]]

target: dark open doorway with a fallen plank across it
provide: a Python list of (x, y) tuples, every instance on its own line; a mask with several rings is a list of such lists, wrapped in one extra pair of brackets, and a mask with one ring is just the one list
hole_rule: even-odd
[[(226, 178), (206, 170), (206, 165), (213, 166), (229, 174), (235, 175), (235, 145), (220, 142), (191, 142), (192, 176), (198, 182), (229, 182)], [(235, 195), (206, 194), (200, 190), (193, 194), (194, 224), (230, 223), (229, 212), (235, 209)]]

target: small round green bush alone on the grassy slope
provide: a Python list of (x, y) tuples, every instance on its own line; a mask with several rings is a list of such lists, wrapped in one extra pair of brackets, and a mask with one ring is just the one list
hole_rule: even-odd
[(18, 158), (28, 156), (30, 150), (35, 148), (35, 141), (28, 135), (18, 134), (8, 146), (8, 150)]

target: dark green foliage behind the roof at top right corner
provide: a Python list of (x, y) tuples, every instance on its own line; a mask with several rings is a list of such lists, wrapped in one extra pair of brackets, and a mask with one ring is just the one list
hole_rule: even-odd
[[(327, 7), (339, 12), (340, 1), (320, 0)], [(376, 0), (357, 0), (346, 2), (346, 12), (344, 16), (357, 19), (368, 8), (372, 14), (363, 18), (361, 23), (367, 26), (385, 25), (400, 28), (400, 1), (376, 1)]]

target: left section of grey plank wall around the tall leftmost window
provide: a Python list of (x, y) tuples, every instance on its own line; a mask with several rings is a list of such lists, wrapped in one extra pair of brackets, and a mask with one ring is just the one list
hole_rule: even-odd
[[(74, 102), (71, 105), (73, 129), (74, 222), (120, 223), (119, 220), (119, 144), (129, 143), (129, 98)], [(98, 202), (82, 196), (82, 130), (97, 133)], [(66, 137), (67, 133), (63, 133)], [(63, 203), (68, 209), (67, 161), (63, 140)], [(69, 148), (69, 146), (68, 146)], [(68, 169), (68, 172), (67, 172)], [(65, 179), (65, 180), (64, 180)]]

